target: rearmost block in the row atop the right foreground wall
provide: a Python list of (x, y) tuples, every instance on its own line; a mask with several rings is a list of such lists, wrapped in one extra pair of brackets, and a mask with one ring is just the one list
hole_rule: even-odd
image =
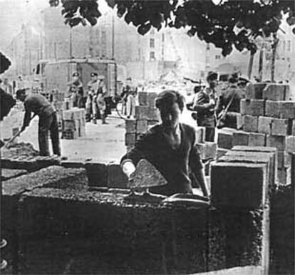
[(274, 171), (274, 183), (277, 180), (277, 169), (278, 169), (278, 152), (275, 147), (260, 147), (260, 146), (234, 146), (232, 151), (240, 152), (252, 152), (256, 154), (257, 152), (269, 152), (271, 155), (271, 167), (270, 170)]

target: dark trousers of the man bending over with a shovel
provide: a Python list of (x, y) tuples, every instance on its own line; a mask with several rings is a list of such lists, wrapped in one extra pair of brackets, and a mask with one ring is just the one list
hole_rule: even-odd
[(48, 156), (48, 132), (50, 132), (53, 154), (61, 155), (61, 145), (58, 135), (58, 121), (56, 113), (52, 115), (39, 115), (39, 127), (38, 127), (38, 142), (40, 155)]

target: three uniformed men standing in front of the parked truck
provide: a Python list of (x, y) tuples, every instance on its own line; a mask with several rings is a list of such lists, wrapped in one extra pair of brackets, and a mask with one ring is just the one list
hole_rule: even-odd
[(88, 82), (87, 96), (83, 96), (83, 83), (80, 80), (78, 72), (73, 73), (73, 81), (70, 83), (71, 100), (73, 107), (86, 108), (86, 120), (92, 120), (97, 123), (101, 119), (103, 124), (107, 124), (105, 97), (107, 89), (105, 86), (105, 77), (98, 73), (90, 73), (91, 80)]

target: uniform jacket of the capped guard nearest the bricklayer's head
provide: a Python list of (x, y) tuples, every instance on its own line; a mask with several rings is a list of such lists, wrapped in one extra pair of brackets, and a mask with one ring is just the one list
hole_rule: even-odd
[(197, 111), (197, 124), (204, 127), (215, 127), (214, 107), (209, 106), (210, 99), (216, 103), (216, 91), (212, 88), (205, 88), (196, 95), (193, 109)]

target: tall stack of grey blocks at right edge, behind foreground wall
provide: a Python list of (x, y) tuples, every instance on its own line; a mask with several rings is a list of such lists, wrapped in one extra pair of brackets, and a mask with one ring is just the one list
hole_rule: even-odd
[(232, 145), (267, 146), (278, 150), (278, 177), (291, 182), (291, 152), (295, 151), (295, 101), (289, 85), (257, 83), (241, 100), (243, 130), (233, 133)]

